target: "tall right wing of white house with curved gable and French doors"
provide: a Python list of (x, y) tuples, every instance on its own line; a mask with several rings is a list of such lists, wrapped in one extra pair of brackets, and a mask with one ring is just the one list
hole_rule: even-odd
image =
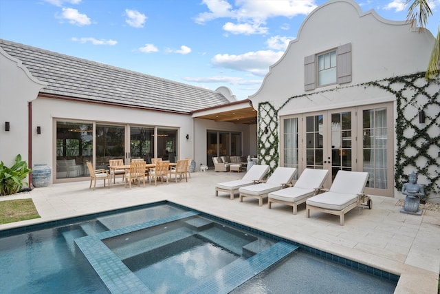
[(368, 171), (366, 193), (391, 197), (416, 171), (438, 197), (440, 83), (423, 78), (434, 40), (355, 1), (316, 8), (250, 96), (261, 162), (329, 169), (325, 187)]

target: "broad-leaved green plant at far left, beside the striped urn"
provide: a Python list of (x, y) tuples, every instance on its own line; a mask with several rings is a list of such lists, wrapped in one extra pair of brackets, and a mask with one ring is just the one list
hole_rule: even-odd
[(23, 184), (28, 185), (28, 182), (23, 182), (23, 180), (31, 171), (28, 169), (28, 163), (21, 160), (20, 154), (15, 158), (12, 167), (5, 167), (2, 161), (0, 163), (0, 196), (15, 194), (23, 187)]

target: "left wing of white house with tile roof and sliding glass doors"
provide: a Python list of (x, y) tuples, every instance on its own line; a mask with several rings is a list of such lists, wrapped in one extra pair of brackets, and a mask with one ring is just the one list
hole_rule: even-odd
[[(0, 160), (84, 180), (86, 162), (256, 154), (256, 112), (226, 87), (206, 90), (0, 40)], [(210, 146), (209, 152), (207, 145)], [(197, 169), (195, 169), (197, 171)]]

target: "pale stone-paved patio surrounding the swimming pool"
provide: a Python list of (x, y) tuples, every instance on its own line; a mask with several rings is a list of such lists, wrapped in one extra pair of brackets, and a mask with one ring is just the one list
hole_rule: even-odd
[[(124, 188), (119, 183), (109, 189), (102, 181), (95, 190), (89, 181), (36, 188), (20, 196), (3, 196), (1, 200), (32, 198), (41, 218), (1, 224), (0, 230), (21, 227), (99, 211), (131, 207), (137, 204), (170, 200), (234, 222), (268, 231), (301, 244), (362, 262), (400, 275), (395, 293), (437, 293), (440, 272), (440, 212), (423, 211), (422, 216), (400, 213), (397, 199), (371, 196), (373, 209), (353, 209), (340, 226), (339, 217), (311, 211), (305, 207), (292, 214), (292, 207), (229, 194), (215, 197), (214, 185), (241, 178), (243, 173), (196, 172), (188, 182), (146, 183), (146, 187)], [(119, 178), (119, 182), (121, 179)], [(304, 205), (304, 204), (303, 204)]]

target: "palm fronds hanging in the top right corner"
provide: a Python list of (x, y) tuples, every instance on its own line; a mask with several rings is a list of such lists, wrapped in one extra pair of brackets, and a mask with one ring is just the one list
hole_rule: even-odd
[[(428, 5), (428, 0), (406, 0), (405, 5), (411, 3), (408, 8), (406, 18), (410, 21), (411, 26), (417, 26), (419, 30), (426, 29), (428, 17), (432, 15), (432, 11)], [(428, 69), (426, 70), (426, 79), (434, 78), (440, 73), (440, 26), (437, 32), (437, 39), (432, 48)]]

